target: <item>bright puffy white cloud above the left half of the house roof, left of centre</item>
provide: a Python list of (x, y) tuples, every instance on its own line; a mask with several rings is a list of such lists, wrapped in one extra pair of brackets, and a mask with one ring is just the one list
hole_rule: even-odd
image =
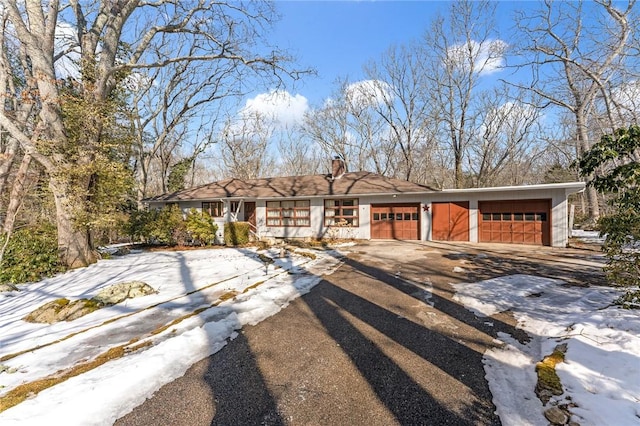
[(284, 128), (301, 123), (308, 110), (309, 101), (304, 96), (292, 95), (284, 90), (273, 90), (248, 99), (240, 115), (248, 117), (258, 113)]

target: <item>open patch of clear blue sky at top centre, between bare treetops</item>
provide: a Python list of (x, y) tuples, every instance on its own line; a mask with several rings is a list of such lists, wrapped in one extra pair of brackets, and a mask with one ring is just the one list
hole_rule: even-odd
[(330, 95), (338, 77), (362, 78), (362, 67), (394, 44), (419, 38), (447, 2), (434, 1), (277, 1), (282, 20), (273, 43), (303, 66), (317, 70), (295, 92), (317, 104)]

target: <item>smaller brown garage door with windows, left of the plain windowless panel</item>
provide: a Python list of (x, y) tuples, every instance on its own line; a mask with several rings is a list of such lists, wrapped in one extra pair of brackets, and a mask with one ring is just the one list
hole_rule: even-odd
[(419, 204), (371, 205), (371, 238), (418, 240), (420, 235)]

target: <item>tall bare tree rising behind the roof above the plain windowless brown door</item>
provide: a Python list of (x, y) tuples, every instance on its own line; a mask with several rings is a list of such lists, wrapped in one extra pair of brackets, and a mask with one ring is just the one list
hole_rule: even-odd
[(493, 2), (457, 1), (446, 17), (434, 20), (424, 36), (429, 101), (434, 106), (439, 139), (452, 159), (456, 188), (466, 184), (466, 152), (480, 130), (479, 84), (483, 76), (502, 66), (506, 44), (496, 38), (494, 15)]

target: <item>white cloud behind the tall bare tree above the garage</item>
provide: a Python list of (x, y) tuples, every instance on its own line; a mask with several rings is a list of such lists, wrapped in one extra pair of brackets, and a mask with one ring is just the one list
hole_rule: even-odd
[(502, 40), (487, 40), (478, 43), (456, 44), (447, 51), (445, 63), (455, 68), (468, 70), (473, 61), (473, 68), (481, 75), (500, 71), (504, 66), (504, 52), (507, 43)]

